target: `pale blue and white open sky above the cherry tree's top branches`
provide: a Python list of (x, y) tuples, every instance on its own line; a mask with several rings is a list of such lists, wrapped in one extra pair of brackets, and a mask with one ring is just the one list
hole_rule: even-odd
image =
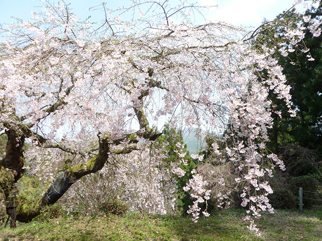
[[(169, 0), (177, 1), (177, 0)], [(264, 18), (273, 20), (278, 14), (292, 7), (294, 0), (195, 0), (201, 5), (218, 5), (212, 8), (205, 16), (208, 21), (224, 21), (233, 25), (245, 27), (258, 27)], [(56, 1), (51, 1), (55, 2)], [(73, 13), (80, 19), (92, 15), (96, 21), (103, 17), (102, 12), (90, 12), (88, 8), (106, 2), (109, 8), (126, 6), (127, 0), (65, 0)], [(32, 16), (31, 12), (39, 12), (43, 3), (40, 0), (0, 0), (0, 23), (11, 23), (11, 17), (18, 17), (28, 21)]]

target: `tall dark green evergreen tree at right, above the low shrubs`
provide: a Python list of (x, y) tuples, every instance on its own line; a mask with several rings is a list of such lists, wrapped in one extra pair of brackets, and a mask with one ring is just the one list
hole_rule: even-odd
[[(307, 10), (305, 16), (311, 19), (319, 19), (322, 14), (322, 5), (318, 8)], [(303, 15), (295, 11), (283, 13), (290, 19), (289, 26), (297, 28)], [(276, 23), (283, 15), (276, 17)], [(310, 23), (306, 23), (308, 25)], [(284, 34), (285, 29), (278, 25), (267, 24), (257, 36), (256, 48), (263, 51), (261, 46), (274, 47), (277, 42), (272, 42), (272, 36)], [(287, 44), (287, 43), (286, 43)], [(289, 45), (288, 45), (289, 46)], [(309, 52), (305, 51), (305, 48)], [(294, 52), (288, 52), (288, 56), (282, 56), (279, 51), (274, 54), (278, 64), (283, 68), (286, 83), (291, 86), (292, 108), (297, 115), (291, 117), (284, 100), (278, 99), (273, 92), (270, 93), (272, 100), (273, 128), (269, 132), (270, 142), (268, 147), (279, 155), (286, 166), (286, 172), (291, 176), (321, 175), (322, 154), (322, 36), (313, 37), (306, 30), (303, 41), (298, 43)], [(307, 55), (311, 55), (314, 61), (308, 61)], [(258, 73), (259, 78), (265, 79), (268, 73)], [(277, 111), (282, 118), (279, 118)]]

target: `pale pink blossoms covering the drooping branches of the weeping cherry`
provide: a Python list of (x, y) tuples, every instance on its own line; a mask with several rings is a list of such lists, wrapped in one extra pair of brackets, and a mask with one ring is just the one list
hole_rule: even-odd
[[(71, 155), (73, 164), (86, 163), (97, 154), (91, 143), (97, 137), (109, 138), (113, 160), (113, 150), (148, 139), (148, 122), (166, 117), (171, 127), (203, 127), (218, 135), (228, 126), (222, 138), (226, 147), (213, 147), (222, 162), (233, 163), (239, 181), (246, 183), (243, 206), (250, 207), (250, 229), (256, 230), (252, 217), (272, 211), (267, 199), (272, 189), (263, 178), (272, 175), (275, 164), (283, 168), (278, 157), (265, 150), (273, 122), (269, 91), (284, 99), (294, 114), (290, 87), (273, 54), (280, 51), (286, 56), (298, 47), (305, 26), (318, 36), (319, 22), (306, 18), (305, 26), (291, 28), (281, 19), (277, 24), (286, 34), (272, 38), (283, 44), (259, 49), (252, 43), (256, 33), (247, 29), (189, 22), (187, 11), (195, 9), (190, 3), (174, 7), (166, 2), (162, 8), (155, 4), (151, 6), (155, 12), (139, 10), (140, 17), (128, 22), (122, 20), (122, 11), (137, 13), (135, 6), (114, 12), (104, 8), (106, 20), (95, 31), (63, 3), (45, 2), (43, 12), (33, 14), (34, 21), (9, 25), (9, 37), (0, 51), (4, 53), (0, 56), (0, 128), (9, 126), (19, 132), (24, 126), (34, 134), (26, 152), (27, 160), (38, 164), (33, 171), (46, 173), (50, 163), (61, 160), (59, 152), (46, 149), (58, 144), (63, 144), (60, 150)], [(186, 21), (178, 23), (175, 18), (183, 16)], [(302, 50), (313, 61), (309, 51)], [(262, 70), (266, 77), (259, 77)], [(127, 139), (134, 129), (144, 135)], [(44, 136), (45, 144), (40, 145), (37, 135)], [(178, 163), (165, 170), (157, 168), (161, 153), (151, 158), (148, 152), (134, 151), (115, 158), (119, 167), (114, 185), (123, 190), (120, 198), (133, 202), (132, 209), (170, 210), (175, 200), (173, 175), (184, 175), (178, 167), (184, 155), (179, 151)], [(48, 164), (33, 162), (41, 159)], [(206, 185), (194, 173), (185, 187), (194, 198), (189, 210), (194, 220), (201, 211), (198, 204), (209, 198)]]

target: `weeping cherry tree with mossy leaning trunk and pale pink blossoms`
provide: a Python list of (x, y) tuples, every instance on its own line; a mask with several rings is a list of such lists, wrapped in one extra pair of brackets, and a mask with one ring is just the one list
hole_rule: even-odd
[[(55, 203), (78, 179), (109, 165), (111, 156), (154, 141), (160, 133), (151, 128), (152, 122), (170, 116), (171, 127), (217, 133), (229, 127), (222, 137), (229, 145), (221, 161), (232, 162), (236, 182), (245, 183), (241, 205), (249, 207), (249, 228), (257, 230), (254, 218), (260, 211), (273, 211), (267, 198), (272, 189), (264, 177), (272, 175), (274, 165), (283, 169), (265, 147), (273, 121), (269, 91), (294, 114), (290, 87), (272, 55), (296, 48), (303, 28), (287, 25), (290, 20), (283, 16), (267, 22), (266, 29), (285, 28), (286, 34), (274, 38), (289, 44), (259, 49), (254, 42), (262, 28), (196, 24), (194, 16), (205, 9), (187, 1), (133, 0), (118, 10), (103, 4), (96, 7), (104, 14), (97, 28), (79, 20), (64, 2), (43, 2), (42, 12), (33, 13), (31, 21), (17, 20), (2, 29), (7, 38), (0, 43), (0, 129), (8, 142), (0, 164), (1, 215), (6, 215), (5, 199), (24, 174), (25, 143), (29, 153), (57, 149), (77, 162), (65, 165), (32, 207), (19, 203), (22, 221)], [(309, 26), (318, 36), (319, 24)], [(263, 70), (265, 78), (258, 75)], [(96, 140), (97, 148), (90, 140)], [(220, 156), (217, 147), (214, 143)], [(207, 201), (209, 190), (193, 172), (185, 190), (194, 198), (189, 212), (197, 220), (201, 211), (209, 215), (198, 206)]]

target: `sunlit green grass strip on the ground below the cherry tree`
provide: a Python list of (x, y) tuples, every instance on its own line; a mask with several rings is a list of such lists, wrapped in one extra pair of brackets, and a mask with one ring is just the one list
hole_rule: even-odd
[(322, 240), (322, 208), (277, 210), (258, 220), (261, 236), (251, 233), (243, 221), (243, 210), (216, 212), (194, 223), (176, 215), (128, 213), (124, 216), (94, 217), (43, 215), (30, 223), (18, 223), (16, 229), (0, 228), (0, 240)]

